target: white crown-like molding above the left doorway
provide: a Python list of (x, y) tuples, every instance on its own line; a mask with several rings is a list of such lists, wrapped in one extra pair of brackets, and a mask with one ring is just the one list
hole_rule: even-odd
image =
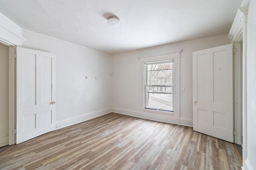
[(8, 46), (21, 46), (28, 41), (22, 37), (22, 28), (0, 13), (0, 43)]

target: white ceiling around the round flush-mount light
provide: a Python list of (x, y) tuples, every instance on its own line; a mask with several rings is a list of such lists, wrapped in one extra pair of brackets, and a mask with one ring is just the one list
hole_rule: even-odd
[[(114, 54), (228, 33), (242, 0), (0, 0), (23, 29)], [(120, 27), (108, 26), (116, 15)]]

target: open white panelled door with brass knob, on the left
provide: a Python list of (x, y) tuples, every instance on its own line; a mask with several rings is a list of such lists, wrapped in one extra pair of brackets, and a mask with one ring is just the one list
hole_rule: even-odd
[(55, 129), (55, 55), (16, 49), (16, 144)]

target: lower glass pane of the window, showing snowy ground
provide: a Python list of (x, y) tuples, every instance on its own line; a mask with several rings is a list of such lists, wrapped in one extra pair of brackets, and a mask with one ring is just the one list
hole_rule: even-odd
[(148, 93), (147, 107), (173, 111), (172, 94)]

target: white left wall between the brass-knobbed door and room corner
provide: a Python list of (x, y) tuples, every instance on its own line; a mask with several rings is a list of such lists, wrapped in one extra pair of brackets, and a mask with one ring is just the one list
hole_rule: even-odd
[(23, 47), (56, 54), (57, 128), (112, 111), (111, 55), (30, 31), (22, 36)]

